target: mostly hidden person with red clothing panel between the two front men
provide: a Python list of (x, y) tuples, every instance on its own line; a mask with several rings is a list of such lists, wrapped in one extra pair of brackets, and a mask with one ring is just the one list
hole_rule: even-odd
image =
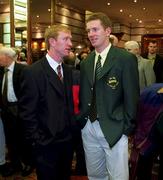
[[(64, 58), (64, 63), (66, 63), (69, 67), (72, 68), (73, 74), (73, 103), (74, 103), (74, 114), (78, 115), (79, 110), (79, 91), (80, 91), (80, 71), (75, 68), (75, 59), (71, 58), (71, 56), (67, 56)], [(81, 130), (76, 121), (72, 123), (72, 142), (73, 142), (73, 157), (75, 159), (75, 167), (72, 171), (73, 175), (82, 175), (85, 176), (87, 174), (86, 164), (85, 164), (85, 156), (83, 143), (81, 138)]]

